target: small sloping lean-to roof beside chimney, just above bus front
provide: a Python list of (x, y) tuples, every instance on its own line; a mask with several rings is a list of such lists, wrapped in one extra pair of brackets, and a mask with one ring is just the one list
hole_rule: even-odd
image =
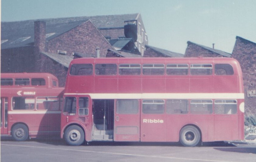
[(66, 68), (68, 68), (70, 62), (73, 60), (72, 57), (67, 55), (51, 54), (48, 52), (41, 52), (41, 54), (44, 54), (45, 56), (51, 58), (52, 60), (58, 62), (59, 64), (62, 64)]

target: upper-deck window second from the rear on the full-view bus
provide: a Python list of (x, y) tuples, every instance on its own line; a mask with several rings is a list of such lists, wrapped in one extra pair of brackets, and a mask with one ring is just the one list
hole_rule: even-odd
[(212, 75), (212, 64), (191, 64), (191, 75)]

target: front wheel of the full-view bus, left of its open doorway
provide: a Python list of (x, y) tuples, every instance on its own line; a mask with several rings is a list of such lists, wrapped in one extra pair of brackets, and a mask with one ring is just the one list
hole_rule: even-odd
[(79, 146), (84, 143), (84, 131), (79, 126), (69, 126), (64, 132), (64, 139), (68, 145)]

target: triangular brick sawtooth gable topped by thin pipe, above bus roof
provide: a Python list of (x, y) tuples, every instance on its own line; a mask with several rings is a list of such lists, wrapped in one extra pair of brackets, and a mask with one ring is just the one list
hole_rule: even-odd
[(222, 57), (219, 54), (211, 52), (205, 48), (197, 46), (196, 44), (189, 43), (186, 48), (184, 57)]

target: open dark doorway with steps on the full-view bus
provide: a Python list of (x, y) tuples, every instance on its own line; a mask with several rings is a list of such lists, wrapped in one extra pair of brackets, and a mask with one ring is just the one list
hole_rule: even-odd
[(92, 140), (113, 141), (114, 100), (92, 100)]

